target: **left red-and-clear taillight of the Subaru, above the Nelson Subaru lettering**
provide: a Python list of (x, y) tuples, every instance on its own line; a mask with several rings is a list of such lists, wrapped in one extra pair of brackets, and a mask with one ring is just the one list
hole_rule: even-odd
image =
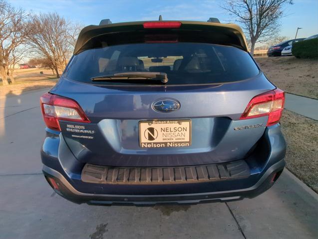
[(58, 120), (90, 123), (75, 100), (45, 93), (40, 98), (40, 104), (44, 122), (52, 130), (61, 131)]

